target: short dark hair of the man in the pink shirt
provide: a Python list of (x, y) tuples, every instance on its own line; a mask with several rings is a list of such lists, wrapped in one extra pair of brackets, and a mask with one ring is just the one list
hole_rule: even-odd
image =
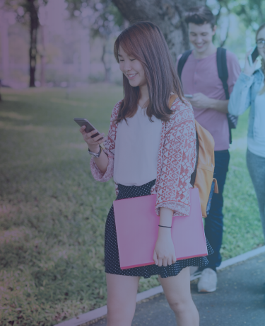
[(209, 23), (211, 24), (211, 28), (216, 25), (216, 17), (206, 6), (197, 6), (190, 8), (186, 13), (185, 21), (187, 24), (194, 23), (196, 25)]

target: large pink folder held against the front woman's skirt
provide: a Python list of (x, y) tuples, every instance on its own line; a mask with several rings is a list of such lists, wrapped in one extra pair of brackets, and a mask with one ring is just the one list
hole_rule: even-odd
[[(121, 269), (155, 264), (158, 238), (156, 195), (114, 201), (114, 215)], [(177, 260), (208, 255), (198, 189), (190, 189), (189, 216), (172, 218), (172, 240)]]

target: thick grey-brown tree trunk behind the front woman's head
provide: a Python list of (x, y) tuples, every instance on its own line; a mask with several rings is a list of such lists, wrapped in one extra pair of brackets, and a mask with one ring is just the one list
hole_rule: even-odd
[(173, 61), (189, 49), (184, 13), (192, 6), (204, 6), (206, 0), (112, 0), (130, 23), (151, 21), (162, 30)]

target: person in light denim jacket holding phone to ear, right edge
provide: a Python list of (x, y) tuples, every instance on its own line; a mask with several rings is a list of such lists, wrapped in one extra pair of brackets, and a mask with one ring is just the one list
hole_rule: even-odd
[(246, 56), (245, 68), (230, 95), (228, 111), (240, 116), (251, 106), (247, 134), (247, 168), (257, 194), (265, 238), (265, 23), (257, 30), (256, 42), (261, 55), (261, 68), (255, 70), (257, 61), (250, 66)]

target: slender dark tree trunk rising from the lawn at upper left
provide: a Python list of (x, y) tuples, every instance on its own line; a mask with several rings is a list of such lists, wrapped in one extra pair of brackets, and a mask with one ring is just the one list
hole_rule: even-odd
[(28, 0), (28, 8), (30, 12), (30, 87), (35, 87), (37, 28), (39, 27), (35, 0)]

